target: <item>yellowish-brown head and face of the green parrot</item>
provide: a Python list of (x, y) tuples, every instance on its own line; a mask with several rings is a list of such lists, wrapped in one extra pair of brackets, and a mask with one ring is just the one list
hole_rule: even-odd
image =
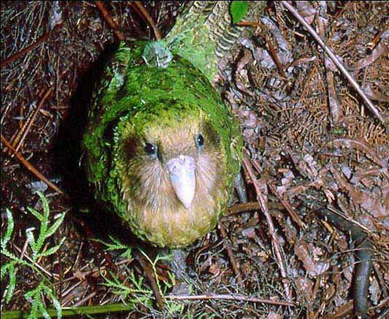
[(168, 242), (179, 232), (197, 233), (189, 235), (191, 242), (199, 237), (197, 227), (201, 234), (214, 226), (229, 195), (227, 159), (220, 135), (203, 110), (183, 105), (154, 108), (122, 118), (115, 134), (115, 163), (130, 224), (137, 231), (149, 237), (162, 228)]

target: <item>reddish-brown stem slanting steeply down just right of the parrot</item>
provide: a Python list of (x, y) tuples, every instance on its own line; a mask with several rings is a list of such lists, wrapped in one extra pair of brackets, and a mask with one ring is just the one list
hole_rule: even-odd
[[(281, 271), (281, 276), (282, 276), (282, 278), (287, 279), (287, 272), (285, 270), (284, 262), (283, 262), (281, 252), (280, 252), (280, 243), (278, 242), (278, 238), (277, 238), (276, 232), (274, 230), (273, 221), (271, 220), (271, 216), (269, 214), (269, 210), (268, 210), (268, 206), (266, 204), (265, 198), (262, 194), (261, 188), (259, 187), (259, 185), (256, 181), (254, 172), (251, 168), (251, 164), (249, 163), (249, 161), (247, 160), (247, 158), (245, 156), (243, 156), (243, 164), (244, 164), (244, 166), (245, 166), (245, 168), (246, 168), (246, 170), (247, 170), (247, 172), (248, 172), (248, 174), (249, 174), (249, 176), (254, 184), (255, 192), (256, 192), (256, 196), (257, 196), (257, 201), (261, 204), (262, 212), (265, 215), (266, 220), (268, 222), (269, 234), (271, 235), (271, 242), (272, 242), (274, 252), (276, 255), (276, 260), (278, 262), (278, 267), (280, 268), (280, 271)], [(283, 281), (283, 283), (284, 283), (286, 298), (288, 301), (290, 301), (290, 300), (292, 300), (292, 294), (290, 291), (290, 287), (289, 287), (287, 281)]]

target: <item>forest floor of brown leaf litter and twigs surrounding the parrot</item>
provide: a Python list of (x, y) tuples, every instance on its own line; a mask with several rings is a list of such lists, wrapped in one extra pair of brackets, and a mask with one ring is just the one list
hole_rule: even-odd
[[(73, 106), (118, 43), (107, 17), (125, 39), (153, 39), (147, 20), (130, 1), (104, 2), (105, 19), (93, 1), (1, 2), (2, 316), (58, 301), (71, 318), (388, 318), (389, 3), (299, 2), (376, 112), (281, 3), (245, 21), (217, 88), (240, 121), (249, 202), (187, 249), (186, 285), (169, 252), (114, 241), (115, 217), (68, 196)], [(144, 5), (166, 34), (182, 3)], [(49, 212), (36, 190), (47, 217), (30, 213)]]

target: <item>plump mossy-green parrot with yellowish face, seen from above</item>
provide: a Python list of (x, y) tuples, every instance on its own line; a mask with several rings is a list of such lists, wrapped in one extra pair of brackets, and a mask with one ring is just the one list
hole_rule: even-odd
[(210, 83), (212, 13), (192, 4), (164, 42), (122, 43), (90, 105), (82, 161), (94, 196), (159, 247), (211, 231), (240, 170), (239, 123)]

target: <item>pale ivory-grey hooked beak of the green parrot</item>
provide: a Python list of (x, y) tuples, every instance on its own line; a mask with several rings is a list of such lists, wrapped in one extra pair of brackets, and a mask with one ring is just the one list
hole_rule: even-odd
[(171, 185), (177, 198), (189, 209), (193, 201), (196, 189), (194, 158), (186, 155), (179, 155), (167, 163)]

